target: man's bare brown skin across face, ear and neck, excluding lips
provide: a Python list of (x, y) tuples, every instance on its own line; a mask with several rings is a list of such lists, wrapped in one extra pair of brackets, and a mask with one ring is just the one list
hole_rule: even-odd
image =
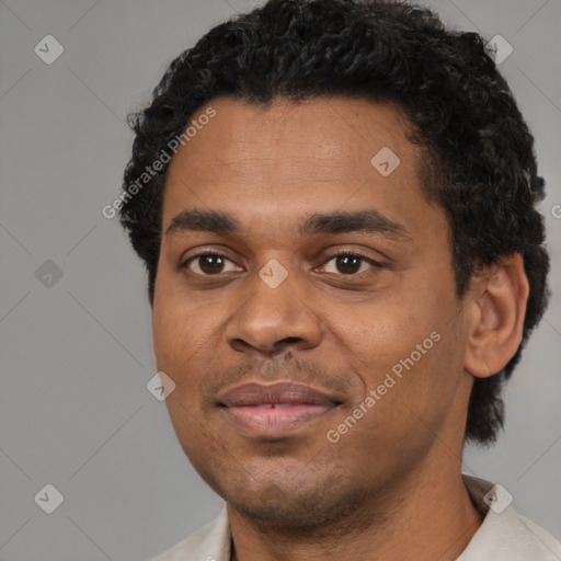
[[(457, 299), (449, 226), (422, 192), (397, 107), (211, 106), (170, 164), (162, 232), (184, 209), (228, 213), (242, 230), (162, 234), (152, 344), (176, 385), (167, 403), (181, 446), (227, 502), (232, 559), (456, 559), (482, 522), (460, 477), (469, 394), (473, 376), (499, 371), (519, 344), (522, 260), (483, 268)], [(383, 147), (401, 160), (388, 176), (370, 163)], [(314, 213), (364, 209), (404, 237), (298, 233)], [(221, 267), (185, 264), (209, 250)], [(343, 250), (380, 265), (353, 272), (337, 265)], [(287, 272), (276, 288), (259, 276), (271, 260)], [(439, 341), (330, 442), (433, 332)], [(287, 437), (257, 438), (217, 407), (219, 392), (255, 380), (307, 383), (341, 405)]]

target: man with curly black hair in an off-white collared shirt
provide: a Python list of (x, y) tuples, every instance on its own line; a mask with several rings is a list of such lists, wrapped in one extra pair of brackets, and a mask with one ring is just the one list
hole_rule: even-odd
[(561, 559), (461, 473), (549, 266), (534, 140), (481, 37), (272, 0), (153, 93), (121, 220), (175, 433), (225, 500), (158, 560)]

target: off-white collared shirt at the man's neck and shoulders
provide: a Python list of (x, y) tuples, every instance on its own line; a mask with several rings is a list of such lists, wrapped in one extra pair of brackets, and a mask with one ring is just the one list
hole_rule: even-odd
[[(561, 543), (518, 514), (501, 485), (462, 473), (463, 483), (484, 515), (483, 523), (456, 561), (560, 561)], [(493, 490), (493, 492), (491, 492)], [(483, 497), (492, 504), (490, 508)], [(489, 497), (494, 495), (494, 501)], [(230, 561), (231, 531), (226, 503), (220, 514), (152, 561)]]

